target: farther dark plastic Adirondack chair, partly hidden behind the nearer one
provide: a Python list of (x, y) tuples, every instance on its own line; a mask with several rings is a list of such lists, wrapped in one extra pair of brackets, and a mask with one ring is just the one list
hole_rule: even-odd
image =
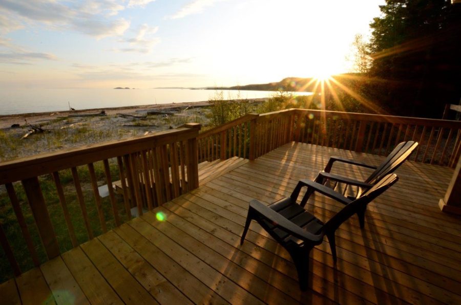
[[(320, 184), (326, 185), (327, 183), (333, 182), (332, 186), (330, 187), (333, 190), (336, 190), (340, 184), (344, 185), (344, 189), (342, 190), (342, 194), (345, 195), (349, 186), (355, 187), (355, 194), (348, 195), (347, 198), (350, 200), (354, 200), (360, 197), (360, 195), (370, 189), (377, 181), (379, 181), (382, 177), (389, 175), (389, 173), (393, 173), (399, 166), (401, 166), (405, 160), (410, 157), (413, 150), (418, 146), (417, 142), (414, 141), (407, 141), (399, 143), (395, 148), (391, 151), (391, 153), (387, 156), (387, 158), (379, 165), (373, 166), (364, 164), (355, 160), (344, 159), (341, 157), (330, 157), (325, 169), (319, 172), (319, 175), (314, 180)], [(350, 179), (347, 177), (343, 177), (340, 175), (335, 175), (330, 173), (331, 168), (333, 167), (334, 162), (342, 162), (348, 163), (352, 165), (357, 165), (361, 167), (371, 168), (374, 171), (365, 181), (357, 181), (354, 179)], [(312, 194), (313, 190), (308, 189), (306, 194), (304, 195), (303, 200), (301, 201), (301, 206), (304, 207), (309, 199), (310, 195)], [(359, 216), (360, 227), (363, 228), (365, 226), (365, 212), (366, 206), (363, 210), (358, 210), (357, 215)]]

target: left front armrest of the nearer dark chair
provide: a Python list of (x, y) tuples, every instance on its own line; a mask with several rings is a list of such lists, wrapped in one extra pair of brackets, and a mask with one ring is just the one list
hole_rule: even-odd
[(268, 208), (264, 204), (260, 203), (256, 199), (250, 201), (250, 208), (260, 216), (264, 217), (266, 220), (273, 223), (276, 227), (282, 228), (283, 230), (289, 232), (291, 235), (300, 239), (312, 241), (315, 243), (318, 243), (323, 239), (323, 234), (316, 235), (307, 232), (306, 230), (287, 220), (273, 209)]

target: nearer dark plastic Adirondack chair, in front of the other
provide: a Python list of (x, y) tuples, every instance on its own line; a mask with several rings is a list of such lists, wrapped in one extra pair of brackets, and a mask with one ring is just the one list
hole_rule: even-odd
[[(398, 180), (395, 174), (390, 174), (376, 182), (370, 189), (363, 192), (359, 198), (350, 200), (331, 188), (310, 180), (300, 180), (290, 197), (281, 199), (269, 206), (257, 200), (250, 201), (240, 244), (245, 240), (252, 220), (256, 220), (274, 239), (290, 254), (298, 271), (301, 290), (308, 288), (309, 254), (310, 250), (323, 242), (326, 235), (331, 247), (333, 259), (336, 261), (336, 246), (334, 232), (357, 211), (366, 208), (367, 204), (378, 197)], [(326, 223), (306, 211), (296, 201), (303, 187), (320, 192), (345, 206)]]

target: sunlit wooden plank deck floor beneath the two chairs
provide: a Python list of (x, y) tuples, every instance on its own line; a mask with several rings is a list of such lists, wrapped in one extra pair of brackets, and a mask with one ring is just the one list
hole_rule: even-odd
[[(250, 199), (288, 195), (331, 155), (383, 159), (292, 142), (253, 162), (220, 163), (233, 170), (204, 171), (209, 179), (191, 193), (0, 285), (1, 302), (460, 304), (461, 219), (437, 205), (447, 167), (397, 170), (400, 181), (369, 205), (365, 229), (354, 216), (337, 230), (336, 266), (326, 238), (311, 252), (311, 291), (298, 289), (287, 252), (256, 223), (239, 245)], [(340, 208), (321, 195), (307, 207), (321, 219)]]

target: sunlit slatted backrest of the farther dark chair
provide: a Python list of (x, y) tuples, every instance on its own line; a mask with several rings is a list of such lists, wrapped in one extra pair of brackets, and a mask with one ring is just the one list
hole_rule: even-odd
[(395, 146), (394, 150), (391, 151), (389, 156), (387, 156), (386, 160), (371, 173), (370, 177), (368, 177), (365, 182), (374, 184), (389, 173), (393, 173), (394, 170), (399, 168), (399, 166), (410, 157), (416, 146), (418, 146), (418, 142), (415, 141), (399, 143), (399, 145)]

